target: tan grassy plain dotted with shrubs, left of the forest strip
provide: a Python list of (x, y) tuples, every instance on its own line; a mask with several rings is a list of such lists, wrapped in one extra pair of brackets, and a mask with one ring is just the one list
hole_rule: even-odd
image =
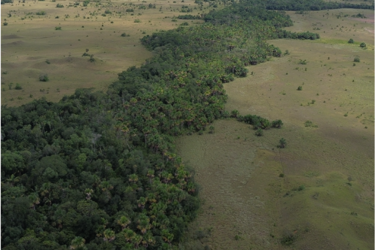
[[(64, 7), (57, 8), (57, 4)], [(83, 2), (73, 7), (74, 2), (60, 0), (1, 5), (1, 104), (21, 105), (42, 96), (58, 101), (83, 87), (106, 90), (118, 73), (152, 56), (140, 44), (140, 38), (184, 22), (171, 21), (174, 15), (187, 14), (179, 12), (184, 4), (191, 8), (188, 14), (208, 12), (208, 3), (204, 4), (207, 9), (200, 10), (193, 0), (152, 4), (155, 8), (149, 8), (148, 2), (131, 0), (91, 2), (86, 7)], [(42, 11), (46, 15), (36, 14)], [(4, 22), (8, 24), (4, 26)], [(201, 21), (193, 23), (197, 22)], [(86, 49), (95, 62), (82, 57)], [(40, 82), (41, 74), (48, 74), (49, 81)], [(12, 89), (9, 83), (13, 83)], [(16, 83), (22, 90), (15, 90)]]

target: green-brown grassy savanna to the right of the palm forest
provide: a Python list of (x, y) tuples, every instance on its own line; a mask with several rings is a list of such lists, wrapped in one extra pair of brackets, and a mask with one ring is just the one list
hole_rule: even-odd
[[(179, 153), (196, 170), (204, 200), (191, 231), (211, 230), (203, 244), (187, 246), (373, 249), (375, 26), (370, 18), (337, 19), (345, 14), (358, 10), (291, 12), (295, 25), (288, 30), (319, 28), (321, 39), (270, 41), (290, 55), (251, 66), (253, 75), (225, 84), (227, 110), (282, 119), (282, 129), (257, 137), (248, 125), (221, 120), (214, 135), (180, 139)], [(281, 137), (284, 149), (276, 147)]]

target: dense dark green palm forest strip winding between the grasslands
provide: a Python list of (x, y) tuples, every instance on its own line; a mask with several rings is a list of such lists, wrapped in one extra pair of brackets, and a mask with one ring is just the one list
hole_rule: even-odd
[[(106, 93), (1, 106), (1, 248), (176, 249), (199, 199), (173, 136), (230, 116), (223, 83), (280, 57), (267, 40), (319, 39), (283, 30), (292, 21), (266, 10), (270, 2), (240, 1), (202, 25), (144, 37), (154, 57), (120, 73)], [(282, 125), (231, 116), (258, 129)]]

